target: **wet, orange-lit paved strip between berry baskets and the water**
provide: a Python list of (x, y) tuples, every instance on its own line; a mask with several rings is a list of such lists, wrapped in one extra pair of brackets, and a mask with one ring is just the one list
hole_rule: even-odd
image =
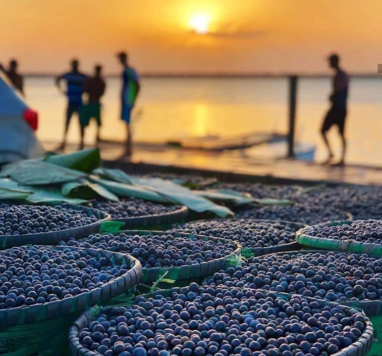
[[(43, 142), (53, 150), (51, 142)], [(87, 146), (86, 148), (90, 148)], [(382, 186), (382, 167), (345, 165), (324, 166), (296, 159), (261, 159), (231, 152), (206, 152), (178, 148), (155, 148), (135, 144), (132, 157), (123, 156), (123, 145), (103, 142), (101, 157), (105, 167), (126, 171), (193, 173), (229, 181), (273, 182), (289, 184), (350, 184)], [(68, 144), (66, 152), (75, 151), (76, 144)]]

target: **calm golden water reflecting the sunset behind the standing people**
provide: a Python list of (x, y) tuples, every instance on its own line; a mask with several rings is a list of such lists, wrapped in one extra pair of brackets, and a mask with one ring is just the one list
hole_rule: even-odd
[[(316, 146), (316, 160), (326, 151), (319, 130), (326, 113), (329, 79), (300, 79), (296, 138)], [(53, 78), (27, 78), (27, 101), (38, 110), (41, 140), (61, 139), (64, 127), (65, 97), (55, 88)], [(107, 80), (103, 98), (105, 139), (124, 139), (124, 125), (119, 120), (117, 78)], [(347, 161), (382, 166), (382, 81), (352, 79), (349, 114)], [(144, 78), (133, 120), (134, 139), (164, 141), (189, 136), (217, 134), (230, 136), (248, 132), (287, 130), (287, 81), (281, 78)], [(95, 123), (86, 133), (92, 143)], [(72, 119), (69, 140), (79, 138), (78, 120)], [(339, 154), (336, 129), (329, 132), (333, 148)]]

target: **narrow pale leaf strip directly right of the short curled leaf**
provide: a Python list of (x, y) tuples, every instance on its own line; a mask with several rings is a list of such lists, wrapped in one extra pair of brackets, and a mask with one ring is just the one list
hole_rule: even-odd
[(122, 197), (134, 197), (145, 200), (151, 200), (158, 203), (174, 203), (171, 199), (165, 198), (155, 191), (145, 189), (144, 187), (137, 185), (129, 185), (121, 182), (116, 182), (107, 179), (101, 179), (98, 176), (89, 176), (90, 180), (98, 183), (99, 185), (105, 187), (110, 192), (122, 196)]

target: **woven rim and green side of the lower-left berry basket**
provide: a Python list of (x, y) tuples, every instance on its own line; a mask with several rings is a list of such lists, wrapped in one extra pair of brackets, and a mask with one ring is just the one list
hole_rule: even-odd
[(138, 260), (120, 253), (55, 247), (56, 250), (86, 250), (93, 257), (105, 257), (111, 265), (130, 269), (89, 292), (59, 301), (9, 308), (0, 311), (0, 354), (7, 356), (66, 356), (65, 334), (73, 321), (89, 307), (105, 303), (136, 285), (142, 277)]

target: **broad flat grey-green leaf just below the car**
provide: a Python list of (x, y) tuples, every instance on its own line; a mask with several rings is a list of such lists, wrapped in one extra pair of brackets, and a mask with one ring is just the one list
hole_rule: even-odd
[(40, 160), (25, 160), (4, 166), (0, 177), (10, 177), (20, 184), (45, 185), (77, 180), (86, 174)]

